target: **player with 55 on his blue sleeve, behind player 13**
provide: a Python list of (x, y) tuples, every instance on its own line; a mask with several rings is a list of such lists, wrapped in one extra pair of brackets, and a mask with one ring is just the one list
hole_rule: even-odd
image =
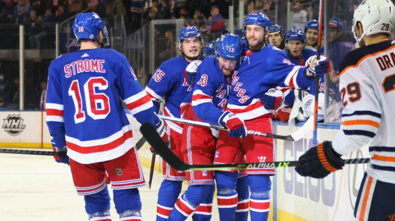
[[(184, 77), (184, 72), (190, 62), (199, 58), (202, 48), (203, 38), (200, 31), (195, 26), (183, 27), (178, 35), (178, 49), (182, 56), (163, 62), (145, 88), (156, 107), (159, 107), (159, 100), (164, 99), (164, 115), (180, 118), (180, 105), (192, 89)], [(180, 142), (183, 126), (172, 121), (165, 123), (170, 149), (182, 158)], [(167, 221), (181, 192), (182, 182), (186, 180), (185, 172), (171, 168), (165, 161), (162, 168), (164, 180), (158, 192), (157, 221)]]

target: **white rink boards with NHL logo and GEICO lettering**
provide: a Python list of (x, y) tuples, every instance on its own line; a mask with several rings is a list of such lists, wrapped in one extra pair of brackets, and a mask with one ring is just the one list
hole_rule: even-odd
[[(126, 111), (127, 112), (127, 111)], [(127, 112), (128, 113), (128, 112)], [(133, 137), (141, 138), (140, 124), (127, 114), (133, 125)], [(50, 136), (45, 123), (45, 112), (0, 111), (0, 147), (3, 148), (51, 148)], [(298, 124), (297, 126), (301, 126)], [(299, 127), (294, 128), (297, 130)], [(318, 142), (331, 141), (339, 130), (339, 124), (318, 124)], [(288, 135), (288, 125), (274, 122), (274, 132)], [(276, 161), (297, 160), (312, 147), (313, 132), (296, 142), (275, 140)], [(139, 150), (141, 163), (151, 164), (148, 144)], [(368, 148), (352, 152), (343, 158), (369, 157)], [(160, 170), (157, 157), (156, 170)], [(257, 159), (258, 162), (258, 159)], [(325, 179), (304, 178), (293, 167), (277, 168), (272, 177), (272, 200), (270, 220), (273, 221), (353, 221), (356, 195), (367, 164), (347, 165), (343, 170), (330, 174)]]

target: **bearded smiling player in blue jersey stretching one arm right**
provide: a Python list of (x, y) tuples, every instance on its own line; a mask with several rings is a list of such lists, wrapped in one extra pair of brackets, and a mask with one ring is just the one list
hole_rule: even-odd
[[(260, 97), (277, 85), (306, 89), (313, 81), (314, 74), (326, 69), (326, 60), (314, 61), (315, 65), (311, 67), (291, 64), (282, 50), (266, 44), (269, 27), (270, 21), (262, 13), (251, 13), (245, 19), (243, 31), (247, 48), (240, 67), (233, 74), (228, 105), (219, 120), (221, 124), (237, 117), (247, 129), (273, 133), (272, 111), (264, 108)], [(238, 128), (238, 133), (229, 135), (227, 131), (220, 131), (214, 154), (215, 164), (233, 163), (239, 151), (245, 153), (247, 162), (256, 162), (257, 159), (261, 162), (274, 161), (273, 139), (254, 135), (244, 137), (241, 136), (245, 133), (244, 126)], [(245, 173), (251, 191), (251, 220), (266, 221), (270, 208), (270, 176), (275, 175), (275, 169), (246, 169)], [(215, 174), (217, 195), (221, 194), (225, 201), (223, 205), (228, 208), (226, 213), (220, 211), (221, 221), (233, 220), (236, 210), (234, 202), (237, 202), (236, 179), (237, 174), (231, 172), (218, 171)]]

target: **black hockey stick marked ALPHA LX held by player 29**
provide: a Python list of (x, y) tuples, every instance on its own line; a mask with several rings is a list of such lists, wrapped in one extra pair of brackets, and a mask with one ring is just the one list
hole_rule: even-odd
[[(235, 169), (260, 169), (273, 167), (294, 167), (299, 165), (299, 161), (282, 162), (257, 162), (257, 163), (237, 163), (237, 164), (196, 164), (184, 163), (178, 158), (159, 137), (157, 130), (149, 123), (140, 127), (140, 132), (147, 139), (148, 143), (154, 147), (158, 154), (174, 169), (179, 171), (197, 170), (235, 170)], [(368, 163), (369, 158), (346, 159), (346, 164)]]

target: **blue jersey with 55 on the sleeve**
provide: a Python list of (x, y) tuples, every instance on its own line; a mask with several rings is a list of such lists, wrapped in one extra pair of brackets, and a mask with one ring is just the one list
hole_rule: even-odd
[[(180, 105), (192, 89), (184, 76), (188, 65), (189, 62), (181, 56), (163, 62), (145, 88), (154, 102), (164, 97), (164, 115), (180, 118)], [(172, 129), (182, 132), (179, 123), (166, 122)]]

